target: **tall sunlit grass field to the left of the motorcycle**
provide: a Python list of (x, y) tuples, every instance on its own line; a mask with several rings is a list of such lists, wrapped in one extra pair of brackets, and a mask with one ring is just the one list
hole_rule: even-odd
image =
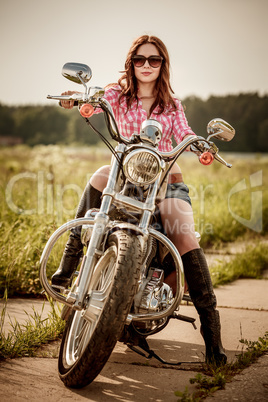
[[(38, 294), (39, 260), (50, 235), (75, 216), (90, 175), (110, 155), (103, 149), (15, 147), (1, 150), (0, 297)], [(31, 210), (33, 210), (31, 212)], [(53, 250), (57, 268), (67, 236)]]

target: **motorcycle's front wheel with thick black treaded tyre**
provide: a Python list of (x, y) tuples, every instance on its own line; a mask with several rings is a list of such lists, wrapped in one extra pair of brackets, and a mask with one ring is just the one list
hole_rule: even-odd
[(59, 353), (59, 376), (81, 388), (100, 373), (119, 339), (137, 290), (142, 253), (137, 237), (118, 230), (94, 268), (85, 311), (72, 311)]

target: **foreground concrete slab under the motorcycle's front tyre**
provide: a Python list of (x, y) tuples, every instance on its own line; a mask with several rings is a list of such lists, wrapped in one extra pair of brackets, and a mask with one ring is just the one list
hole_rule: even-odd
[[(0, 399), (2, 402), (175, 402), (178, 398), (174, 391), (184, 390), (184, 384), (195, 375), (192, 371), (108, 362), (92, 384), (72, 390), (63, 385), (56, 373), (56, 359), (9, 360), (0, 366)], [(194, 386), (189, 385), (189, 391), (194, 391)]]

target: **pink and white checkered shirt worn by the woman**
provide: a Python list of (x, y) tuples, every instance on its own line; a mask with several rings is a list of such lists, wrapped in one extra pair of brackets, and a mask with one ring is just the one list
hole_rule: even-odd
[[(132, 134), (139, 134), (141, 124), (147, 119), (147, 114), (142, 109), (142, 101), (134, 101), (127, 111), (126, 99), (121, 98), (119, 104), (118, 98), (120, 95), (120, 86), (110, 87), (105, 90), (105, 98), (111, 105), (115, 119), (119, 128), (119, 132), (124, 137), (130, 138)], [(151, 114), (151, 118), (158, 120), (163, 125), (162, 139), (159, 143), (159, 151), (169, 152), (172, 150), (172, 135), (177, 144), (179, 144), (185, 135), (195, 135), (192, 129), (188, 126), (181, 102), (174, 98), (177, 110), (166, 108), (163, 113), (156, 114), (159, 111), (157, 106)], [(95, 113), (100, 113), (101, 109), (96, 109)]]

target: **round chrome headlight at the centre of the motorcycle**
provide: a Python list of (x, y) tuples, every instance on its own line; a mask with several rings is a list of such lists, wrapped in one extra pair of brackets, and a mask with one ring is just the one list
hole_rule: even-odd
[(123, 163), (124, 173), (133, 184), (154, 183), (160, 174), (160, 159), (150, 151), (135, 150), (128, 154)]

